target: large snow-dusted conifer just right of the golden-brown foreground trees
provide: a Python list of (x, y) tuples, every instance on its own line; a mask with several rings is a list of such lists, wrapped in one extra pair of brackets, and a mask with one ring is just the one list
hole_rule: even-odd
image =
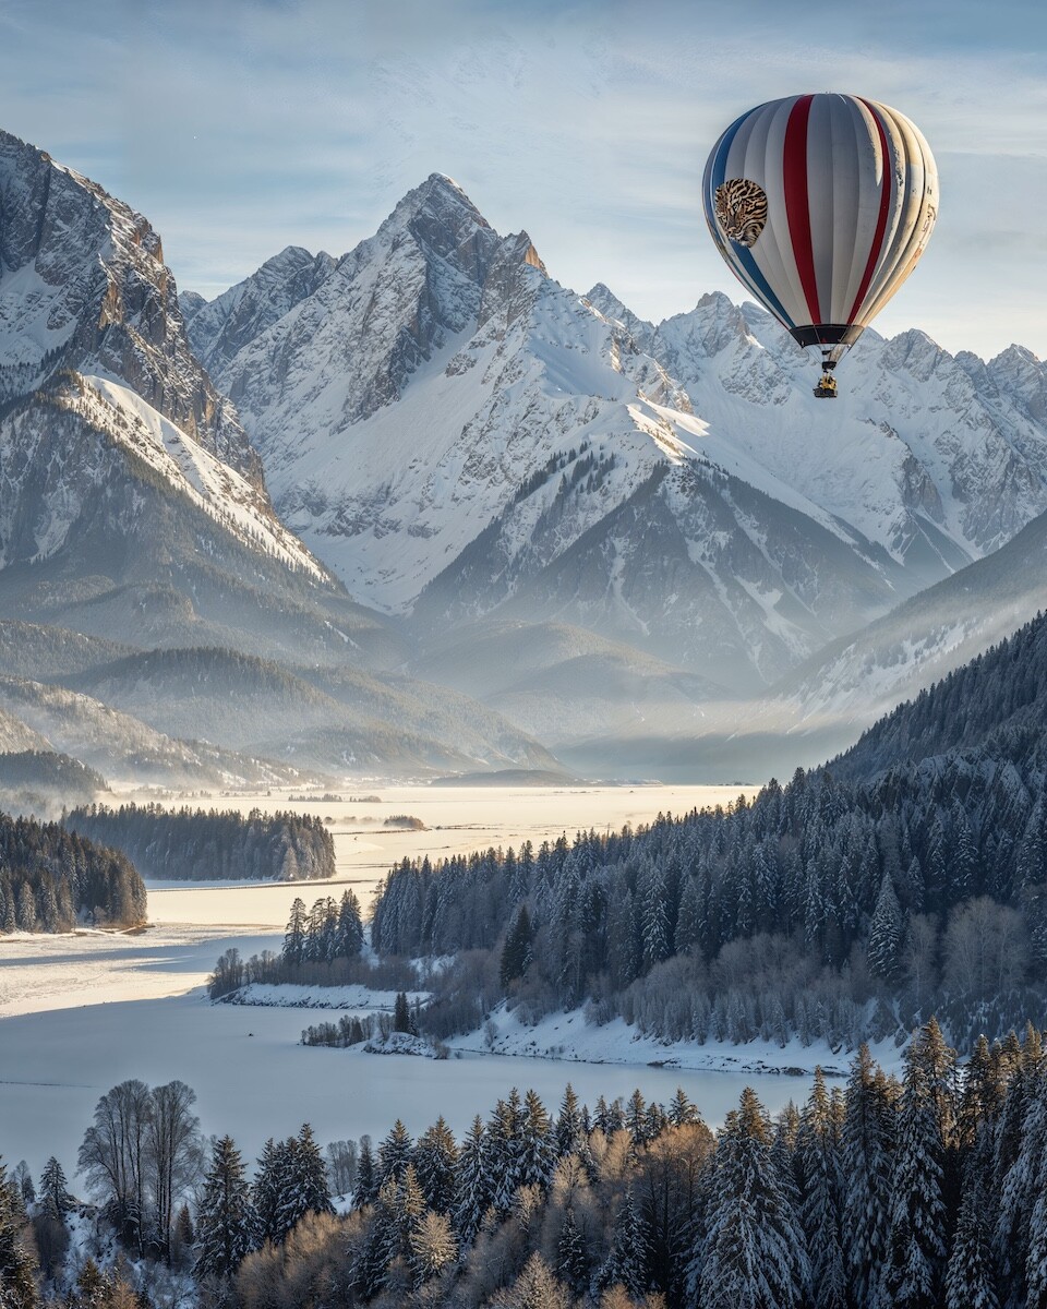
[(728, 1114), (709, 1181), (703, 1309), (800, 1309), (810, 1267), (804, 1232), (771, 1160), (771, 1128), (753, 1090)]

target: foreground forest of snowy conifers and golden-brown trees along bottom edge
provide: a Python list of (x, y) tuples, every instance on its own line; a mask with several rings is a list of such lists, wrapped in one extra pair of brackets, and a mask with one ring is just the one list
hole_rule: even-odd
[[(457, 1139), (309, 1126), (251, 1169), (183, 1083), (114, 1086), (79, 1175), (123, 1255), (67, 1261), (60, 1162), (0, 1173), (4, 1305), (152, 1304), (157, 1267), (230, 1309), (1006, 1309), (1047, 1302), (1047, 1058), (1029, 1026), (962, 1068), (931, 1020), (900, 1077), (861, 1047), (771, 1121), (669, 1105), (558, 1111), (513, 1090)], [(253, 1173), (253, 1175), (250, 1175)], [(340, 1200), (332, 1203), (332, 1191)], [(170, 1282), (168, 1293), (170, 1292)]]

